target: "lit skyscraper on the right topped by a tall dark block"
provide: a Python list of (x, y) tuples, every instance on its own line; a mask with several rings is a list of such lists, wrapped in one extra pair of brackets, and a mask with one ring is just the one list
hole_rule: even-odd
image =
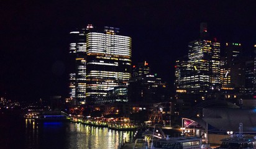
[(200, 25), (200, 38), (188, 45), (188, 59), (176, 61), (176, 91), (206, 93), (220, 84), (220, 43), (209, 40), (207, 24)]

